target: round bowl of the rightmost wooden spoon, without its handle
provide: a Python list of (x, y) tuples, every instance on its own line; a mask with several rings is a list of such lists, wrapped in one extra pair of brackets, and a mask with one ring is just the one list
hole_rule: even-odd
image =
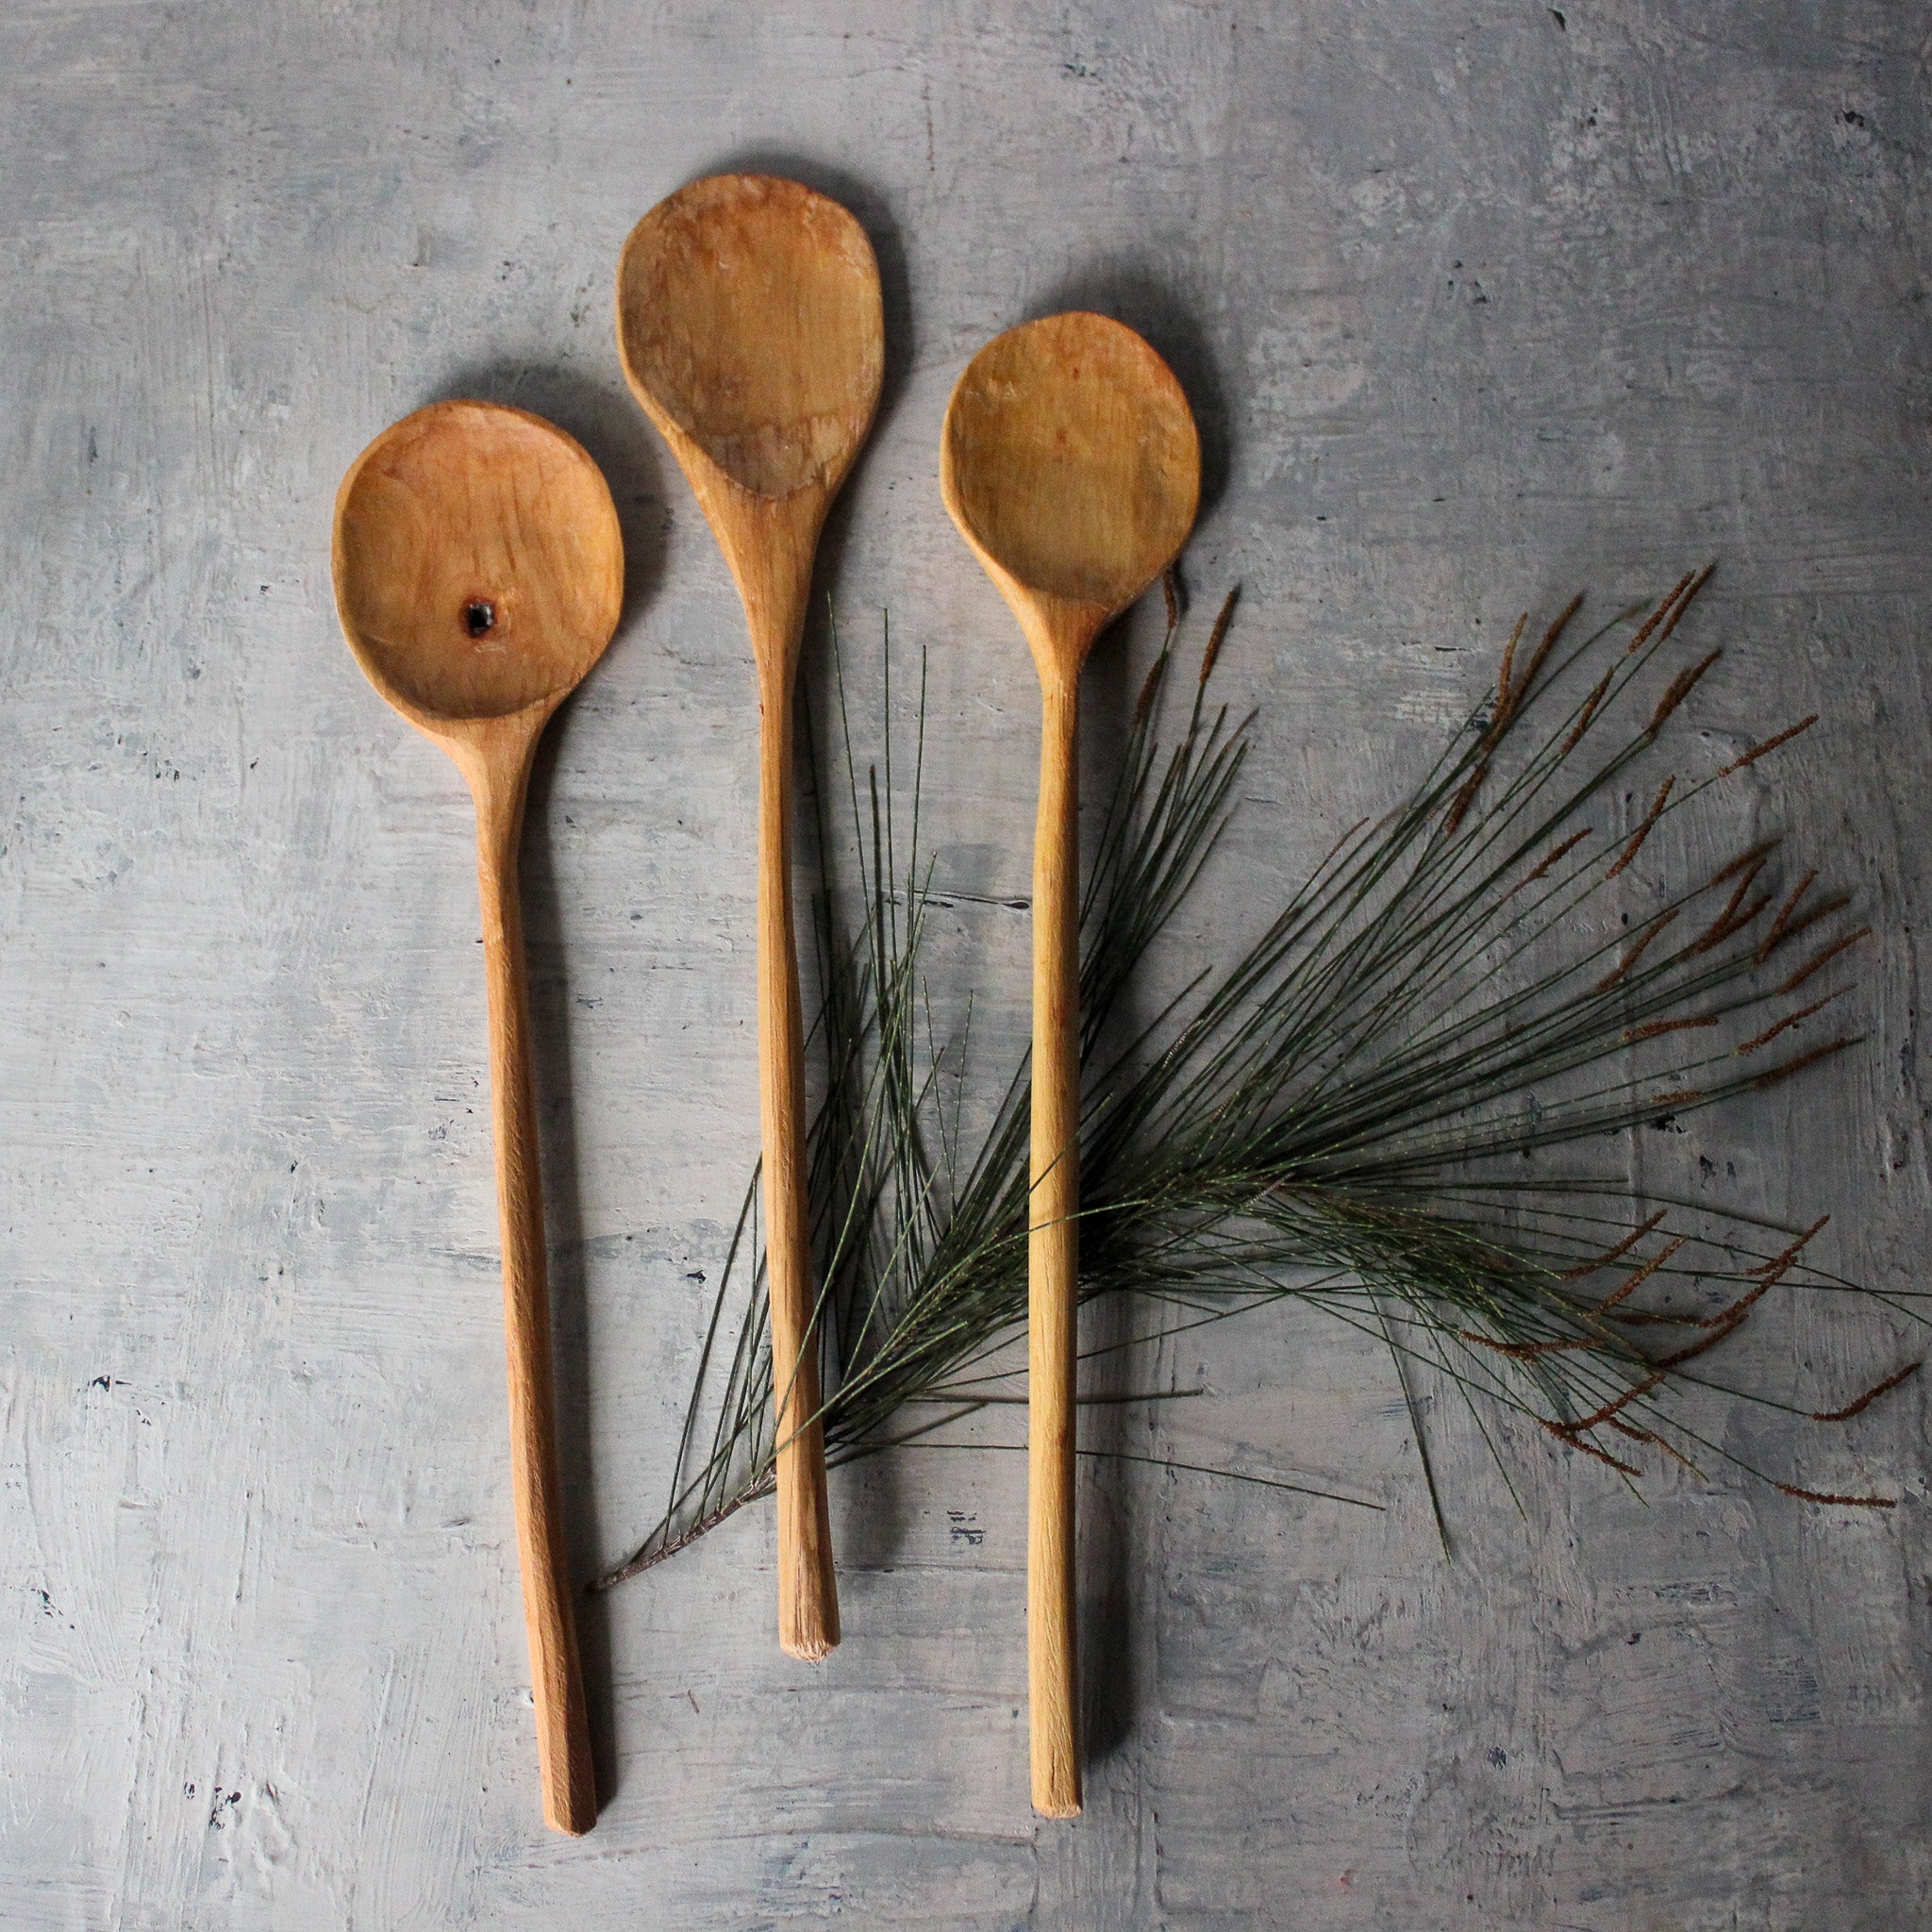
[(1122, 611), (1180, 553), (1200, 437), (1161, 357), (1105, 315), (1049, 315), (968, 363), (939, 448), (947, 508), (1022, 589)]

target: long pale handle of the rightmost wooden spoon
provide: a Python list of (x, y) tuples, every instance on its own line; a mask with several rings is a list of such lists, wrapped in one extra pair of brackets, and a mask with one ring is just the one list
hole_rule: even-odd
[(1074, 1360), (1080, 1283), (1078, 668), (1043, 680), (1034, 825), (1034, 1150), (1026, 1329), (1026, 1683), (1034, 1810), (1080, 1810)]

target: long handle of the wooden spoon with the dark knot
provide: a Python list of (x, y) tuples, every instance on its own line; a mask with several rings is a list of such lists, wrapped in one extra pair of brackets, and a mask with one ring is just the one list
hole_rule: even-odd
[(510, 1484), (524, 1571), (529, 1679), (537, 1704), (543, 1820), (554, 1832), (597, 1822), (589, 1716), (570, 1611), (570, 1557), (556, 1488), (556, 1418), (551, 1378), (551, 1291), (543, 1254), (537, 1109), (529, 1078), (529, 995), (524, 983), (524, 914), (516, 848), (524, 827), (527, 753), (473, 781), (483, 962), (489, 974), (489, 1086), (497, 1126), (497, 1213), (502, 1225), (502, 1312), (510, 1356)]

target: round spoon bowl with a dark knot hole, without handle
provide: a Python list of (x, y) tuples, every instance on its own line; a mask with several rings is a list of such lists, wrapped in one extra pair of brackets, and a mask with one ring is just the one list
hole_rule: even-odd
[(574, 690), (616, 630), (624, 539), (572, 437), (524, 410), (437, 402), (342, 479), (334, 574), (369, 680), (435, 728)]

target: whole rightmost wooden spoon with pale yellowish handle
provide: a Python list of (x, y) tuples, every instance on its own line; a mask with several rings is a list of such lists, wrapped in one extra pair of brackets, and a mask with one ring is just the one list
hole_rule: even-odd
[(1080, 1810), (1074, 1362), (1080, 1279), (1080, 667), (1180, 553), (1200, 439), (1132, 328), (1049, 315), (995, 336), (947, 406), (939, 489), (1039, 670), (1034, 1146), (1028, 1215), (1026, 1675), (1034, 1808)]

